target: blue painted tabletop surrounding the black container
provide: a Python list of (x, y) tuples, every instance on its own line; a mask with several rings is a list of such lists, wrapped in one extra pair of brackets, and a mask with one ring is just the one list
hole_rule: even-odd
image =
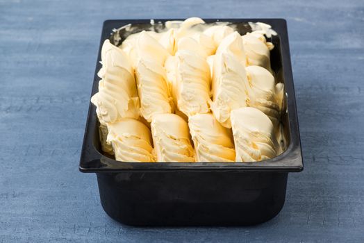
[[(102, 22), (287, 19), (305, 169), (265, 224), (135, 228), (78, 171)], [(364, 1), (0, 0), (1, 242), (364, 242)]]

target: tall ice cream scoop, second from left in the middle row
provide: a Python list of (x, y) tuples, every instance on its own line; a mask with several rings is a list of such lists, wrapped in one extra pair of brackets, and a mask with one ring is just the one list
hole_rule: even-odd
[(155, 114), (173, 112), (172, 97), (163, 67), (169, 54), (145, 31), (138, 37), (135, 76), (140, 97), (140, 113), (147, 120)]

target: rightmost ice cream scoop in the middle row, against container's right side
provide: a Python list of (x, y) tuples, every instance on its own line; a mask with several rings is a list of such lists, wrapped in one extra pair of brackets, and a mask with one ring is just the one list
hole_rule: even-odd
[[(276, 84), (274, 76), (265, 68), (260, 66), (249, 66), (246, 68), (249, 81), (248, 105), (258, 108), (270, 117), (274, 126), (279, 123), (280, 104), (276, 97)], [(281, 85), (277, 86), (280, 92)]]

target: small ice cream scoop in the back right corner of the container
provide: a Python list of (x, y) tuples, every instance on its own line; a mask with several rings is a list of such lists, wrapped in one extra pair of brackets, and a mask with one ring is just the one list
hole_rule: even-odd
[(264, 35), (254, 32), (247, 33), (242, 35), (242, 43), (244, 44), (249, 66), (264, 67), (269, 72), (272, 72), (270, 67), (270, 50), (274, 46), (272, 43), (266, 42)]

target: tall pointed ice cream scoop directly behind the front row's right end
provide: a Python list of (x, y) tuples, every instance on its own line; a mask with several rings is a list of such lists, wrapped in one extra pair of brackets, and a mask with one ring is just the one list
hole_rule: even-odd
[(231, 128), (231, 110), (247, 106), (247, 74), (241, 36), (231, 33), (222, 40), (213, 63), (211, 110), (222, 126)]

